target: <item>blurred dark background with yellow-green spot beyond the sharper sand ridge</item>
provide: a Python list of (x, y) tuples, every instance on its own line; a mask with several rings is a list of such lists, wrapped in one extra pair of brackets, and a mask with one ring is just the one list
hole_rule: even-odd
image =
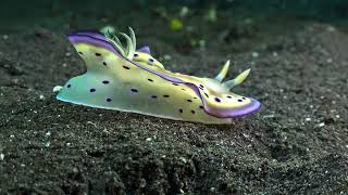
[[(115, 31), (125, 31), (132, 26), (140, 42), (144, 42), (141, 37), (165, 39), (182, 53), (206, 47), (209, 41), (220, 44), (217, 48), (222, 51), (246, 51), (250, 50), (250, 42), (254, 47), (265, 37), (289, 34), (308, 23), (326, 23), (346, 30), (347, 21), (348, 1), (345, 0), (0, 2), (1, 34), (45, 28), (66, 35), (73, 30), (98, 30), (109, 26)], [(236, 41), (243, 44), (236, 48)]]

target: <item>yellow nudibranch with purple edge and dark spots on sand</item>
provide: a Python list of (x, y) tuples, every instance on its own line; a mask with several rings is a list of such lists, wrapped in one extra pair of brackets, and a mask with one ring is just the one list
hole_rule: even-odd
[(57, 99), (90, 107), (138, 113), (174, 120), (231, 123), (258, 110), (261, 103), (231, 92), (250, 69), (222, 82), (229, 61), (215, 78), (172, 73), (151, 56), (149, 47), (136, 50), (132, 28), (122, 35), (126, 47), (110, 34), (77, 31), (70, 41), (84, 60), (87, 72), (55, 87)]

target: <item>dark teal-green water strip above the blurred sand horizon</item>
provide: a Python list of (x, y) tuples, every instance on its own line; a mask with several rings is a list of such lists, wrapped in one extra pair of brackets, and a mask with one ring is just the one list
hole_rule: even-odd
[[(192, 9), (200, 9), (214, 5), (223, 10), (239, 10), (245, 12), (291, 15), (302, 18), (311, 18), (321, 22), (341, 23), (348, 18), (348, 1), (346, 0), (135, 0), (135, 1), (114, 1), (114, 0), (30, 0), (11, 1), (1, 0), (0, 18), (2, 26), (15, 21), (26, 18), (59, 16), (62, 11), (82, 12), (88, 14), (89, 11), (98, 10), (98, 15), (112, 11), (122, 11), (124, 6), (134, 6), (135, 12), (146, 12), (153, 6), (166, 6), (167, 9), (176, 5), (187, 5)], [(125, 13), (125, 14), (132, 14)]]

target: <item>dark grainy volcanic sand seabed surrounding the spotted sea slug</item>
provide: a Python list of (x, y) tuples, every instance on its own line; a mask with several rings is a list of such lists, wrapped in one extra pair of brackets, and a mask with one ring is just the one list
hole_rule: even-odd
[(346, 194), (348, 35), (287, 18), (200, 17), (186, 23), (204, 50), (153, 14), (108, 24), (133, 26), (157, 57), (171, 55), (171, 70), (213, 77), (233, 56), (228, 78), (252, 68), (235, 91), (261, 100), (260, 113), (207, 126), (59, 102), (52, 88), (85, 70), (65, 35), (104, 18), (2, 27), (0, 194)]

